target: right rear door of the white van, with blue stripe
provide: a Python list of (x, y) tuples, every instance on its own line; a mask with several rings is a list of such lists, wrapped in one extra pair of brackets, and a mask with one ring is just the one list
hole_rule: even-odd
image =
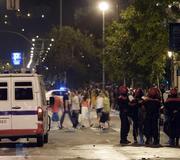
[(12, 129), (32, 132), (37, 129), (37, 96), (34, 77), (12, 78)]

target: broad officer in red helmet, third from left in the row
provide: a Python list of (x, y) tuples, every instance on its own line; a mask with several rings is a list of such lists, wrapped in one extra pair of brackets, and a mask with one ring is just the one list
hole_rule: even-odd
[(143, 101), (145, 111), (144, 134), (146, 136), (146, 144), (159, 145), (159, 117), (160, 117), (160, 92), (157, 88), (152, 87), (148, 90), (147, 98)]

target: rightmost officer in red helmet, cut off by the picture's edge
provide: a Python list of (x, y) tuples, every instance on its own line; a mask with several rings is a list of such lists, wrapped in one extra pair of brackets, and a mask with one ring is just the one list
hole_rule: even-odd
[(165, 104), (166, 121), (164, 123), (164, 132), (169, 136), (169, 144), (179, 145), (180, 135), (180, 98), (177, 97), (175, 88), (170, 90), (170, 96)]

